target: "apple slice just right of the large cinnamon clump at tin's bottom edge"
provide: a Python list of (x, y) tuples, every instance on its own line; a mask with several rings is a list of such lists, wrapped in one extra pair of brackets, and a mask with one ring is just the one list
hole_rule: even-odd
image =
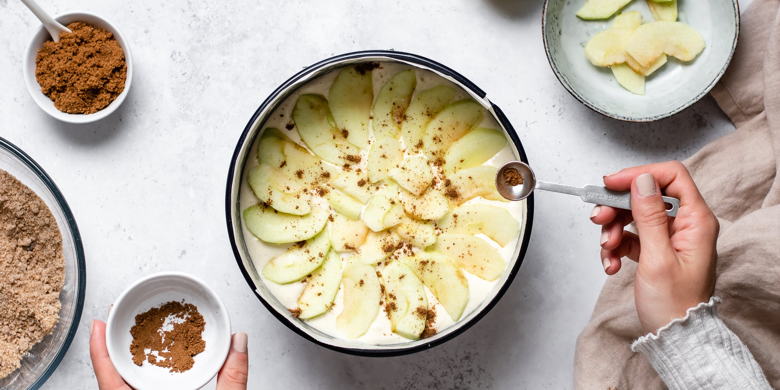
[(469, 282), (458, 263), (441, 252), (422, 250), (401, 260), (431, 290), (452, 321), (458, 321), (469, 302)]

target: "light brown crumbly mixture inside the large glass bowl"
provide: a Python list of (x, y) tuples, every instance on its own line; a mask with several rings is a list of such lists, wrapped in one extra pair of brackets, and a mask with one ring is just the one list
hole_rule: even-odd
[(0, 378), (59, 321), (62, 235), (33, 190), (0, 170)]

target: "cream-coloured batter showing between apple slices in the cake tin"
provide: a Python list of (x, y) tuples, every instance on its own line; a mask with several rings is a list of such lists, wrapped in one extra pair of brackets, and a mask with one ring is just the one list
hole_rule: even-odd
[[(406, 69), (415, 69), (417, 73), (417, 88), (415, 89), (415, 94), (417, 94), (419, 91), (427, 90), (431, 87), (436, 87), (438, 85), (446, 85), (456, 90), (456, 94), (452, 98), (452, 101), (457, 101), (459, 99), (470, 97), (470, 95), (466, 93), (465, 90), (458, 87), (455, 83), (452, 83), (451, 81), (446, 80), (445, 78), (438, 76), (437, 74), (432, 73), (430, 71), (419, 69), (419, 68), (413, 68), (413, 66), (408, 66), (405, 64), (400, 64), (395, 62), (381, 62), (380, 67), (378, 69), (374, 69), (373, 71), (374, 99), (376, 98), (377, 94), (379, 93), (379, 90), (387, 80), (389, 80), (396, 73), (399, 73), (402, 70), (406, 70)], [(301, 94), (321, 94), (324, 97), (328, 97), (328, 90), (333, 80), (335, 79), (337, 73), (339, 73), (338, 69), (330, 73), (327, 73), (323, 76), (317, 77), (317, 79), (311, 80), (309, 83), (301, 87), (299, 90), (296, 90), (293, 94), (287, 97), (285, 101), (283, 101), (282, 104), (279, 105), (278, 108), (276, 108), (275, 111), (269, 116), (269, 118), (261, 125), (262, 129), (268, 129), (271, 127), (280, 129), (282, 130), (282, 133), (290, 137), (297, 144), (304, 145), (296, 129), (293, 128), (293, 116), (292, 116), (293, 107), (295, 106), (296, 101)], [(478, 126), (475, 126), (475, 128), (476, 127), (488, 127), (491, 129), (501, 129), (501, 127), (498, 126), (498, 122), (496, 122), (495, 118), (489, 112), (486, 112), (483, 122), (481, 122)], [(239, 191), (239, 209), (241, 211), (246, 210), (247, 207), (251, 207), (260, 202), (260, 200), (257, 199), (255, 194), (252, 192), (249, 183), (247, 182), (247, 173), (252, 168), (259, 165), (257, 159), (257, 144), (260, 141), (261, 135), (262, 133), (258, 134), (256, 139), (254, 140), (254, 144), (252, 145), (250, 152), (246, 158), (246, 165), (244, 165), (241, 188)], [(370, 140), (372, 143), (374, 142), (373, 131), (371, 133)], [(402, 140), (401, 143), (403, 143)], [(516, 157), (513, 154), (512, 149), (509, 147), (509, 144), (512, 144), (511, 140), (507, 140), (507, 145), (502, 149), (502, 151), (499, 151), (497, 154), (495, 154), (493, 158), (485, 162), (483, 165), (491, 165), (498, 168), (507, 161), (516, 160)], [(406, 151), (406, 147), (404, 145), (402, 146), (404, 150), (404, 157), (409, 156), (410, 154)], [(354, 166), (356, 168), (360, 167), (363, 170), (365, 170), (368, 151), (361, 151), (360, 154), (362, 157), (361, 162), (358, 165), (354, 165)], [(323, 164), (329, 164), (329, 163), (323, 161)], [(342, 169), (341, 167), (337, 167), (337, 168), (339, 168), (339, 170)], [(512, 215), (512, 217), (515, 218), (521, 226), (523, 225), (524, 202), (503, 202), (498, 200), (486, 200), (482, 197), (477, 197), (466, 201), (464, 204), (491, 204), (494, 206), (502, 207), (505, 210), (509, 211), (509, 214)], [(332, 208), (328, 206), (328, 202), (324, 200), (324, 198), (319, 197), (316, 194), (312, 197), (311, 206), (323, 207), (325, 209), (332, 210)], [(363, 209), (365, 207), (366, 206), (363, 205)], [(332, 211), (332, 213), (335, 213), (335, 211)], [(328, 222), (328, 225), (325, 227), (325, 229), (330, 229), (331, 223), (332, 222)], [(261, 241), (260, 239), (257, 239), (257, 237), (255, 237), (246, 228), (246, 223), (244, 223), (243, 218), (242, 218), (242, 228), (243, 228), (244, 241), (246, 243), (246, 249), (250, 254), (250, 258), (254, 264), (254, 267), (258, 271), (263, 269), (264, 266), (268, 263), (268, 261), (271, 260), (271, 258), (284, 253), (291, 246), (290, 243), (273, 244), (273, 243), (266, 243), (264, 241)], [(493, 240), (489, 239), (487, 236), (484, 236), (483, 234), (478, 234), (477, 236), (480, 237), (481, 239), (484, 239), (496, 250), (498, 250), (498, 253), (501, 254), (502, 258), (507, 264), (507, 267), (513, 264), (513, 261), (515, 260), (514, 256), (516, 253), (516, 249), (517, 246), (519, 245), (519, 236), (516, 237), (511, 243), (508, 243), (504, 247), (498, 245), (498, 243), (495, 243)], [(521, 229), (520, 236), (522, 236), (522, 229)], [(353, 256), (353, 254), (354, 253), (352, 251), (340, 253), (342, 258), (342, 267), (346, 263), (346, 260), (349, 259), (349, 257)], [(387, 263), (388, 261), (385, 261), (382, 265), (377, 266), (376, 267), (377, 271), (381, 273), (382, 268), (384, 268), (384, 265)], [(491, 295), (491, 292), (495, 289), (496, 285), (498, 285), (498, 283), (502, 281), (502, 278), (498, 278), (493, 282), (488, 282), (487, 280), (479, 278), (476, 275), (469, 274), (466, 270), (463, 270), (463, 272), (466, 275), (466, 279), (468, 280), (469, 283), (469, 300), (468, 303), (466, 304), (465, 310), (463, 311), (463, 315), (461, 316), (461, 321), (463, 320), (463, 318), (467, 317), (468, 314), (473, 312), (473, 310), (477, 309), (477, 307), (479, 307), (480, 304), (483, 303), (484, 300)], [(296, 307), (298, 307), (298, 298), (300, 294), (303, 292), (303, 289), (307, 285), (305, 282), (306, 280), (305, 278), (303, 279), (302, 282), (293, 282), (287, 285), (280, 285), (278, 283), (271, 282), (270, 280), (264, 278), (263, 275), (260, 275), (260, 278), (262, 279), (262, 282), (268, 288), (268, 290), (271, 291), (271, 293), (273, 293), (276, 299), (280, 303), (282, 303), (285, 307), (287, 307), (288, 309), (295, 309)], [(436, 313), (434, 327), (439, 332), (441, 332), (442, 330), (449, 328), (453, 324), (456, 324), (456, 321), (452, 321), (452, 317), (449, 316), (445, 308), (441, 306), (441, 303), (438, 302), (436, 297), (431, 293), (430, 289), (428, 289), (427, 286), (425, 287), (425, 291), (428, 300), (428, 307), (434, 310)], [(317, 330), (324, 332), (325, 334), (332, 335), (337, 339), (346, 339), (346, 337), (342, 335), (342, 332), (340, 332), (339, 329), (336, 328), (336, 317), (342, 311), (343, 308), (342, 302), (343, 302), (343, 293), (342, 293), (342, 289), (339, 288), (339, 293), (336, 294), (333, 306), (331, 307), (330, 310), (326, 311), (324, 314), (321, 314), (317, 317), (313, 317), (301, 321), (305, 321), (311, 327), (316, 328)], [(381, 309), (382, 307), (378, 311), (377, 316), (374, 318), (374, 321), (371, 323), (371, 326), (370, 328), (368, 328), (367, 332), (365, 332), (363, 335), (361, 335), (360, 337), (354, 340), (358, 342), (364, 342), (369, 345), (387, 345), (387, 344), (398, 344), (398, 343), (410, 342), (411, 341), (410, 339), (406, 339), (400, 335), (396, 335), (391, 331), (390, 320), (388, 319), (385, 311)]]

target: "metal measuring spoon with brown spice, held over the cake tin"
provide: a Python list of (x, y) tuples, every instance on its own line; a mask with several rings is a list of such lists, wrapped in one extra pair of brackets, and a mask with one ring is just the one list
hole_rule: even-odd
[[(511, 171), (515, 168), (523, 176), (522, 184), (510, 186), (505, 180), (504, 172), (507, 169)], [(519, 179), (519, 178), (517, 178)], [(518, 180), (519, 181), (519, 180)], [(566, 186), (566, 184), (550, 183), (537, 180), (534, 171), (522, 161), (509, 161), (498, 168), (495, 174), (495, 188), (502, 197), (509, 200), (523, 200), (527, 198), (534, 190), (554, 191), (556, 193), (569, 193), (583, 198), (587, 203), (602, 204), (631, 210), (631, 191), (613, 191), (605, 186), (596, 186), (595, 184), (586, 184), (585, 186), (575, 187)], [(666, 204), (666, 215), (674, 217), (680, 207), (680, 200), (675, 197), (663, 197)], [(669, 205), (672, 205), (669, 208)]]

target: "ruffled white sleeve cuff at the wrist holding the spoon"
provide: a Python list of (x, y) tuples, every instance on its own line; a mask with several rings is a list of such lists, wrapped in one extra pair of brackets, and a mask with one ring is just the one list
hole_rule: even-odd
[(669, 390), (771, 390), (753, 355), (718, 318), (721, 302), (713, 296), (631, 345), (647, 356)]

